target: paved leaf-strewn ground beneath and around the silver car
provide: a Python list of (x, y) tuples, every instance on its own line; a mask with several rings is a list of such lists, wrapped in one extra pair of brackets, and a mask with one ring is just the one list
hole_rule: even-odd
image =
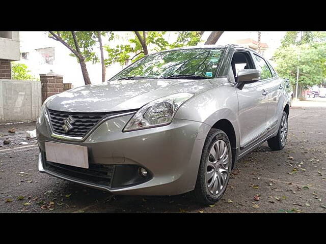
[(36, 140), (24, 137), (35, 124), (0, 125), (0, 212), (326, 212), (325, 125), (326, 98), (294, 103), (286, 147), (271, 151), (264, 143), (239, 160), (227, 192), (210, 207), (189, 193), (112, 196), (41, 174)]

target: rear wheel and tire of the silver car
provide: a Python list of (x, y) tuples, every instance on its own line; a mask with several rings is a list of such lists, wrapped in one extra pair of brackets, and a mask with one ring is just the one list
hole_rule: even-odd
[[(287, 140), (288, 118), (285, 111), (283, 111), (279, 131), (273, 138), (267, 140), (268, 146), (273, 150), (281, 150), (284, 148)], [(285, 128), (285, 129), (284, 129)], [(285, 138), (283, 138), (283, 135)]]

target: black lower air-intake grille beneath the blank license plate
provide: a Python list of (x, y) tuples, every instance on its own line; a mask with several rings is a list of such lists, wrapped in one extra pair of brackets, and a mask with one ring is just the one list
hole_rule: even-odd
[[(45, 157), (44, 157), (45, 158)], [(111, 187), (114, 165), (89, 164), (89, 169), (70, 165), (57, 164), (44, 160), (44, 168), (68, 176), (72, 179), (83, 180), (96, 185)]]

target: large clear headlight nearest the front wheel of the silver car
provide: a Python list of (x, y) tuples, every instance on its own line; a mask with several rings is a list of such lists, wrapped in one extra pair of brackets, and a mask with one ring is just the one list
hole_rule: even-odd
[(122, 131), (134, 131), (168, 125), (171, 123), (178, 108), (193, 96), (194, 94), (191, 93), (178, 93), (156, 99), (141, 107)]

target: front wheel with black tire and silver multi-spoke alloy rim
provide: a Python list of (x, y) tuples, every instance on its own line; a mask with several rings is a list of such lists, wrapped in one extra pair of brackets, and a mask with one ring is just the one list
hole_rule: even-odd
[(232, 151), (227, 134), (219, 129), (211, 129), (203, 147), (194, 190), (199, 203), (210, 205), (222, 198), (229, 182), (231, 166)]

